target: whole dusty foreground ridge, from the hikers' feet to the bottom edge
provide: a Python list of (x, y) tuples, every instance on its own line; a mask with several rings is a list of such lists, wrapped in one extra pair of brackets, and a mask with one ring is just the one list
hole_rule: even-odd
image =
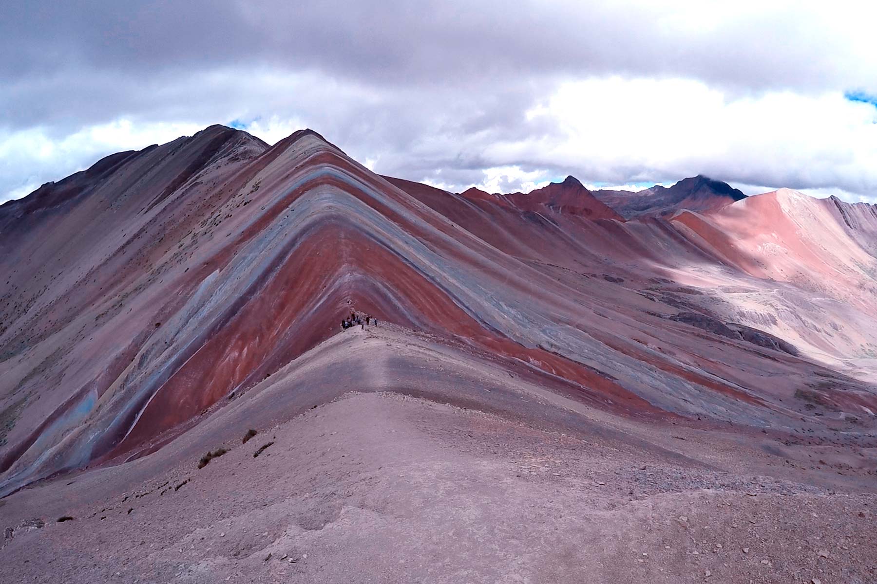
[(613, 417), (400, 330), (273, 377), (154, 454), (4, 498), (0, 580), (877, 581), (872, 475), (781, 438)]

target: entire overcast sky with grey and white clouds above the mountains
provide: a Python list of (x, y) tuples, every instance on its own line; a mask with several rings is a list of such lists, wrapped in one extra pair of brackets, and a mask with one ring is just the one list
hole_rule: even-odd
[(0, 0), (0, 201), (225, 123), (451, 190), (877, 202), (874, 4)]

